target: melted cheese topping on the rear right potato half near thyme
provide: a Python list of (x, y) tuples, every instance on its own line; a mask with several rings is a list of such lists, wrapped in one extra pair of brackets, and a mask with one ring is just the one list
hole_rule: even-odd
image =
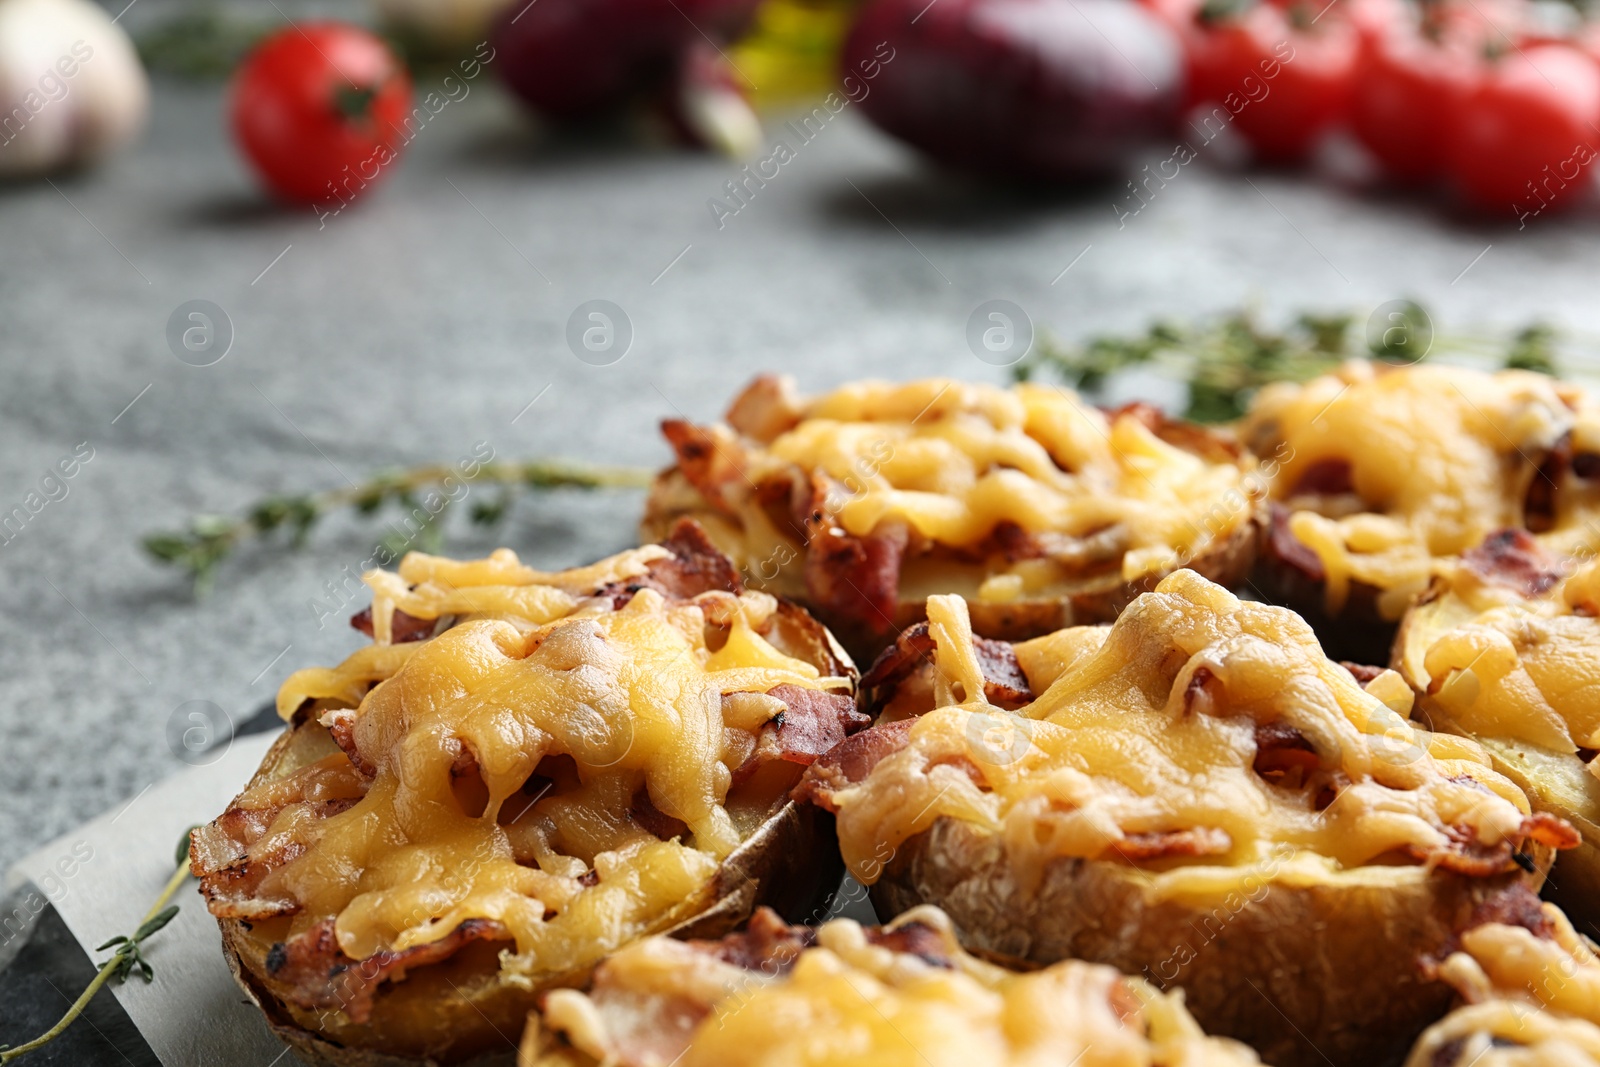
[[(1379, 592), (1398, 619), (1427, 589), (1438, 560), (1494, 530), (1523, 526), (1523, 502), (1546, 453), (1571, 434), (1576, 451), (1600, 450), (1600, 411), (1576, 387), (1530, 371), (1370, 362), (1338, 374), (1261, 390), (1243, 437), (1277, 466), (1272, 498), (1291, 509), (1290, 531), (1326, 571), (1326, 603), (1339, 611), (1352, 582)], [(1354, 498), (1296, 499), (1315, 464), (1350, 464)], [(1558, 501), (1552, 547), (1586, 537), (1595, 494)]]

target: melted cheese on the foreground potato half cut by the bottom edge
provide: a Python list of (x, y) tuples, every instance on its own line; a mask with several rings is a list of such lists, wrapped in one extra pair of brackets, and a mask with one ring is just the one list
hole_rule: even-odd
[[(950, 968), (867, 941), (835, 920), (782, 977), (651, 939), (606, 961), (605, 982), (646, 997), (715, 1005), (683, 1067), (1245, 1067), (1243, 1045), (1206, 1037), (1178, 995), (1109, 966), (1058, 963), (1013, 974), (963, 953), (949, 920), (915, 909), (893, 926), (942, 936)], [(891, 928), (893, 928), (891, 926)], [(619, 1062), (600, 1009), (552, 993), (546, 1022), (600, 1062)], [(621, 1061), (627, 1062), (627, 1061)]]

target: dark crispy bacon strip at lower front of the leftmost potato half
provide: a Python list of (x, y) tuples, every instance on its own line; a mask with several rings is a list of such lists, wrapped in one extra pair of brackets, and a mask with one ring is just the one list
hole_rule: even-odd
[(282, 984), (280, 995), (290, 1003), (310, 1011), (342, 1011), (355, 1024), (371, 1017), (378, 987), (389, 979), (403, 979), (406, 969), (448, 960), (472, 941), (510, 941), (510, 933), (501, 923), (469, 918), (426, 945), (352, 960), (339, 949), (333, 926), (334, 920), (325, 918), (272, 945), (267, 952), (267, 974)]

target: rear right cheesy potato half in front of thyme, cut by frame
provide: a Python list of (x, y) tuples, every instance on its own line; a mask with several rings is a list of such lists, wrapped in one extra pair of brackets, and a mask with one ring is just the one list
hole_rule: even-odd
[(1240, 437), (1270, 482), (1254, 585), (1342, 659), (1387, 662), (1411, 600), (1496, 530), (1595, 541), (1600, 414), (1544, 374), (1349, 363), (1262, 389)]

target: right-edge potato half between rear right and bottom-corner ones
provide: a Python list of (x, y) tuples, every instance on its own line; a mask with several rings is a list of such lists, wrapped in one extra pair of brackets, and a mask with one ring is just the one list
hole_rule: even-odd
[(1538, 811), (1578, 827), (1547, 896), (1600, 936), (1600, 563), (1491, 534), (1406, 613), (1394, 665), (1418, 718), (1477, 741)]

